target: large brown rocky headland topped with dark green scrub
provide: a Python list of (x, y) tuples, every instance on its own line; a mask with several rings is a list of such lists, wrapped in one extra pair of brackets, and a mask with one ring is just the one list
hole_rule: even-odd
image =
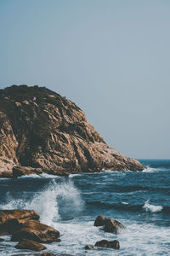
[(0, 90), (0, 177), (16, 166), (56, 175), (144, 169), (109, 147), (75, 103), (26, 85)]

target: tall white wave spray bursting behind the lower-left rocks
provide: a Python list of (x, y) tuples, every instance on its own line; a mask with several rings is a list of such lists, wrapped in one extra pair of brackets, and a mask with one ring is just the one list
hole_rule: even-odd
[(82, 212), (84, 202), (80, 191), (71, 180), (57, 183), (54, 179), (31, 199), (14, 198), (7, 193), (7, 201), (0, 208), (3, 209), (28, 209), (35, 210), (40, 215), (44, 224), (53, 225), (59, 219), (71, 219)]

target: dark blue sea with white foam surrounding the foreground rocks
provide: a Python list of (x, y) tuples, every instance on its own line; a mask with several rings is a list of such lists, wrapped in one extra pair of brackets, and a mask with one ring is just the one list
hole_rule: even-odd
[[(73, 255), (170, 255), (170, 160), (140, 160), (143, 172), (100, 172), (54, 177), (0, 179), (1, 209), (34, 209), (44, 224), (59, 230), (61, 242), (47, 252)], [(102, 214), (127, 226), (119, 235), (94, 227)], [(0, 255), (28, 253), (2, 236)], [(86, 244), (120, 241), (120, 250)], [(44, 251), (44, 252), (46, 252)]]

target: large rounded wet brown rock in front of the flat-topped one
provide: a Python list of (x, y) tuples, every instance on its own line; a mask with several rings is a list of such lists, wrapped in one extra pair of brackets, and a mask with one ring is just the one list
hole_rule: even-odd
[(58, 230), (36, 220), (29, 220), (22, 224), (20, 230), (16, 231), (11, 237), (11, 241), (22, 241), (23, 239), (42, 243), (60, 241)]

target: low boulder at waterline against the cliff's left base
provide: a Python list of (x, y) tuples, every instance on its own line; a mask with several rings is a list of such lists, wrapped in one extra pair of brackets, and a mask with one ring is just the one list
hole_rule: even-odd
[(26, 176), (31, 174), (42, 174), (41, 168), (32, 168), (26, 166), (14, 166), (13, 167), (13, 177)]

